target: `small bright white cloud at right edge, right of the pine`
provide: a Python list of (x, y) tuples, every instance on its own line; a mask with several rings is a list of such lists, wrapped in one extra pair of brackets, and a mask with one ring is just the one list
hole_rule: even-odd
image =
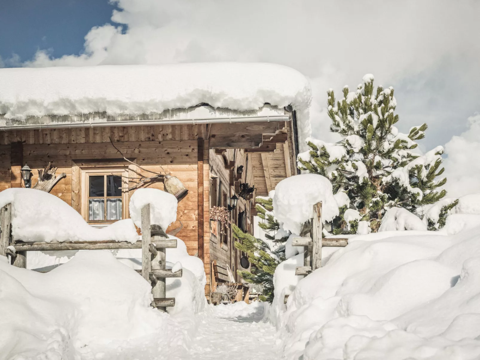
[(480, 114), (468, 118), (468, 130), (445, 144), (448, 197), (480, 192)]

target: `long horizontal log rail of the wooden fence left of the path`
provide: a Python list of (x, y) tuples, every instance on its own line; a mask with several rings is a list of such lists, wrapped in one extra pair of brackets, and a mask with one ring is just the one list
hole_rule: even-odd
[[(156, 249), (174, 249), (176, 239), (152, 241)], [(11, 245), (15, 251), (59, 251), (59, 250), (117, 250), (142, 249), (142, 241), (134, 243), (128, 241), (64, 241), (64, 242), (14, 242)]]

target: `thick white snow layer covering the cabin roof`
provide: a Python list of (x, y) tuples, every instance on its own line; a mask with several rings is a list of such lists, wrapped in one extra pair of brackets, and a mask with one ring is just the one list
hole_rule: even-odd
[(0, 114), (158, 113), (208, 103), (255, 110), (310, 106), (311, 88), (298, 71), (268, 63), (191, 63), (0, 69)]

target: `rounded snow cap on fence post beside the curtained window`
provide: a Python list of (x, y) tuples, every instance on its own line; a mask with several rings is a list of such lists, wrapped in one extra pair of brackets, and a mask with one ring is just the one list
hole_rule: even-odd
[(142, 207), (146, 204), (150, 204), (150, 224), (167, 230), (177, 220), (178, 201), (174, 195), (158, 189), (137, 189), (129, 204), (130, 217), (137, 227), (142, 227)]

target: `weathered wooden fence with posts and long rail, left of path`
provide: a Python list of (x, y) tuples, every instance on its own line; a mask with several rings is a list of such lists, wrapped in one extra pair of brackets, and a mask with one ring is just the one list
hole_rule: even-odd
[(167, 306), (175, 306), (175, 298), (166, 298), (167, 277), (182, 277), (182, 269), (172, 272), (166, 268), (165, 249), (177, 247), (176, 239), (168, 235), (159, 225), (150, 224), (150, 204), (141, 210), (142, 240), (127, 241), (63, 241), (63, 242), (24, 242), (12, 239), (12, 204), (0, 209), (0, 255), (10, 255), (13, 266), (26, 268), (26, 252), (51, 250), (113, 250), (142, 249), (142, 270), (137, 270), (152, 285), (154, 300), (152, 306), (166, 311)]

